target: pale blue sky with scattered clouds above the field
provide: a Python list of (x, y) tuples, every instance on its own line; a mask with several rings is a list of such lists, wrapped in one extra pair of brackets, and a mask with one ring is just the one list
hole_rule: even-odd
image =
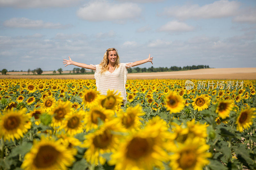
[[(256, 65), (256, 0), (0, 0), (0, 70), (73, 70), (63, 59), (153, 67)], [(144, 63), (141, 68), (151, 67)]]

